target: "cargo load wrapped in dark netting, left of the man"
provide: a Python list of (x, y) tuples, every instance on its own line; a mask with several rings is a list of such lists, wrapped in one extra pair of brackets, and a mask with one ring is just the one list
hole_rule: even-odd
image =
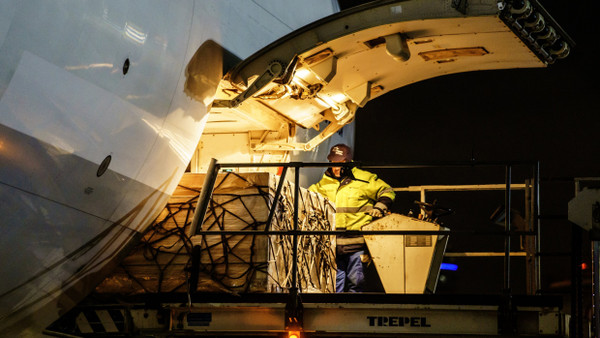
[[(292, 286), (292, 243), (287, 235), (232, 235), (221, 230), (265, 230), (279, 177), (219, 174), (201, 230), (190, 236), (203, 174), (186, 174), (140, 244), (96, 289), (98, 293), (193, 292), (192, 253), (199, 254), (198, 292), (285, 292)], [(300, 189), (298, 229), (334, 230), (335, 210), (320, 195)], [(285, 182), (270, 230), (294, 228), (294, 185)], [(297, 281), (303, 292), (335, 289), (335, 239), (298, 237)]]

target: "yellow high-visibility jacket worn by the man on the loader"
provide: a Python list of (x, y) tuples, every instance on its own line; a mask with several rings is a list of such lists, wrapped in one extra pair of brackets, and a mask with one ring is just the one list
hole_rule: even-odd
[(389, 207), (396, 197), (394, 190), (377, 175), (358, 168), (352, 168), (351, 174), (342, 179), (330, 176), (328, 170), (308, 190), (335, 203), (335, 227), (338, 230), (360, 230), (373, 219), (366, 212), (373, 209), (375, 203), (379, 201)]

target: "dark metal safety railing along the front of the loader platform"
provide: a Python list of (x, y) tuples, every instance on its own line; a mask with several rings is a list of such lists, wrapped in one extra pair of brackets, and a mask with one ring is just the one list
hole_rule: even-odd
[[(398, 164), (398, 165), (363, 165), (360, 162), (350, 163), (315, 163), (315, 162), (289, 162), (289, 163), (217, 163), (216, 160), (212, 160), (210, 167), (207, 172), (207, 177), (204, 181), (204, 186), (199, 197), (196, 211), (194, 213), (193, 222), (191, 225), (191, 235), (284, 235), (292, 236), (292, 291), (297, 292), (297, 241), (298, 236), (303, 235), (341, 235), (348, 234), (348, 231), (343, 230), (328, 230), (328, 231), (308, 231), (299, 230), (298, 228), (298, 196), (300, 192), (300, 185), (295, 184), (294, 191), (294, 219), (292, 230), (271, 230), (271, 222), (273, 221), (274, 214), (276, 213), (277, 205), (273, 203), (269, 210), (266, 226), (264, 230), (199, 230), (200, 220), (204, 219), (208, 203), (210, 201), (212, 188), (214, 187), (217, 174), (221, 169), (226, 168), (282, 168), (277, 189), (275, 191), (274, 201), (277, 201), (281, 194), (283, 183), (286, 179), (286, 175), (289, 168), (294, 169), (294, 181), (300, 181), (300, 172), (303, 168), (326, 168), (326, 167), (360, 167), (363, 169), (419, 169), (419, 168), (443, 168), (443, 167), (504, 167), (505, 169), (505, 183), (504, 189), (496, 187), (505, 191), (505, 217), (504, 217), (504, 230), (498, 231), (461, 231), (461, 230), (448, 230), (440, 229), (439, 231), (432, 230), (363, 230), (357, 231), (361, 235), (431, 235), (431, 234), (447, 234), (451, 236), (462, 236), (462, 235), (490, 235), (490, 236), (504, 236), (504, 283), (503, 292), (506, 294), (511, 293), (511, 257), (514, 256), (511, 253), (511, 236), (531, 236), (535, 241), (535, 285), (536, 289), (539, 289), (540, 285), (540, 243), (539, 243), (539, 162), (435, 162), (435, 163), (409, 163), (409, 164)], [(512, 205), (512, 192), (515, 186), (512, 183), (512, 170), (515, 166), (529, 166), (531, 168), (531, 180), (530, 189), (530, 223), (532, 225), (529, 230), (513, 230), (511, 221), (511, 205)], [(517, 185), (517, 189), (523, 189), (523, 186)]]

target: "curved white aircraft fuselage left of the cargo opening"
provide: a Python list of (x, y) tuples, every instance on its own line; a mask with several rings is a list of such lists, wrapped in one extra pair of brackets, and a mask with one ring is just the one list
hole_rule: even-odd
[[(336, 8), (1, 1), (0, 336), (41, 335), (162, 210), (216, 90), (206, 100), (184, 91), (200, 46), (211, 41), (243, 59)], [(219, 57), (207, 65), (218, 72), (203, 74), (215, 84)]]

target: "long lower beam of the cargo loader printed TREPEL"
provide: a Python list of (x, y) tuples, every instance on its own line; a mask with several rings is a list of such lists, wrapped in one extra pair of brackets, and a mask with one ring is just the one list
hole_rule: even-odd
[[(46, 333), (69, 327), (80, 337), (287, 337), (290, 331), (287, 293), (196, 294), (191, 305), (181, 294), (138, 298), (81, 304)], [(299, 299), (302, 337), (565, 335), (560, 297), (309, 293)]]

